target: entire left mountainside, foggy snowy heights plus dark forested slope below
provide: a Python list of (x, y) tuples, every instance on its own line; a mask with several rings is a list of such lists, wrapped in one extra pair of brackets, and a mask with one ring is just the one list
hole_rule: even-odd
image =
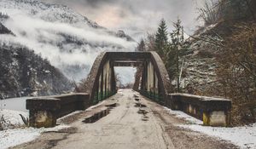
[[(0, 0), (0, 92), (4, 97), (70, 91), (102, 51), (131, 51), (136, 43), (64, 5)], [(133, 72), (119, 72), (119, 74)]]

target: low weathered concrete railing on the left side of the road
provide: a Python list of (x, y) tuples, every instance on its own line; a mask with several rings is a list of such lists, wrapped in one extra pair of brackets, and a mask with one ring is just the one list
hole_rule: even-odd
[(84, 110), (90, 106), (90, 95), (77, 93), (44, 96), (26, 100), (29, 110), (29, 125), (32, 127), (53, 127), (58, 117)]

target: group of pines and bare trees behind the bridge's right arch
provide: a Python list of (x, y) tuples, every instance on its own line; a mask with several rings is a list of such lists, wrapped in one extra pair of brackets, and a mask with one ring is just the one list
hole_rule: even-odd
[(183, 55), (186, 54), (182, 21), (173, 22), (172, 32), (167, 31), (166, 20), (161, 19), (155, 34), (148, 34), (141, 39), (137, 51), (155, 51), (163, 60), (167, 72), (175, 80), (175, 90), (180, 91), (180, 75), (182, 73)]

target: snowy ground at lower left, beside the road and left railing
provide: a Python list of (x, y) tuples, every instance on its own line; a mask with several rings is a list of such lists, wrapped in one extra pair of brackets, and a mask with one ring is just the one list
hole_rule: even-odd
[(20, 114), (24, 117), (28, 117), (28, 112), (18, 112), (7, 109), (0, 110), (0, 118), (3, 118), (0, 121), (1, 125), (3, 125), (3, 130), (0, 130), (0, 149), (17, 146), (35, 140), (41, 133), (46, 131), (57, 131), (69, 127), (66, 125), (59, 125), (49, 129), (28, 128), (24, 125)]

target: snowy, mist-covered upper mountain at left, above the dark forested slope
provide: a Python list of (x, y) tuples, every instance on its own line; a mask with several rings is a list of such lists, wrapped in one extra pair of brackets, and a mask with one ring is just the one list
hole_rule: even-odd
[(131, 51), (136, 46), (125, 32), (109, 31), (64, 5), (35, 0), (0, 0), (0, 3), (2, 13), (9, 16), (2, 23), (15, 34), (0, 40), (33, 49), (77, 82), (87, 76), (100, 52)]

